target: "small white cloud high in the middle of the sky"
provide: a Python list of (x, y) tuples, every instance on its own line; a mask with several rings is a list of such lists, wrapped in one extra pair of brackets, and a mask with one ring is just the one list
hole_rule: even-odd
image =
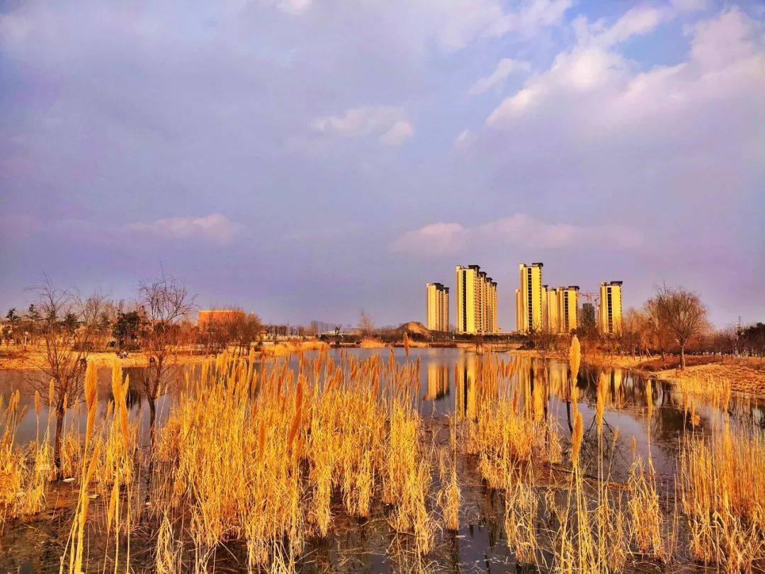
[(351, 108), (341, 116), (319, 117), (311, 122), (311, 129), (346, 138), (377, 134), (386, 145), (399, 145), (415, 132), (404, 110), (389, 106)]

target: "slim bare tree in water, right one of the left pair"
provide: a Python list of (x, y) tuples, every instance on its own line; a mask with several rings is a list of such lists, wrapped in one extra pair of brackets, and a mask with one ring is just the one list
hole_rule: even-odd
[(184, 285), (177, 279), (162, 275), (158, 279), (140, 282), (138, 305), (142, 307), (145, 315), (139, 338), (142, 348), (148, 354), (148, 367), (139, 381), (148, 401), (153, 446), (157, 398), (172, 372), (169, 359), (171, 354), (177, 351), (181, 332), (179, 323), (194, 307), (194, 298), (190, 297)]

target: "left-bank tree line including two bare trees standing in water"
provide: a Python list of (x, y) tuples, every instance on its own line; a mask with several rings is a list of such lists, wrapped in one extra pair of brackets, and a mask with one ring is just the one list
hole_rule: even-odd
[(24, 315), (11, 308), (2, 338), (6, 344), (29, 345), (41, 355), (39, 371), (30, 380), (39, 400), (54, 413), (54, 462), (60, 477), (63, 419), (83, 398), (88, 355), (113, 350), (141, 351), (147, 365), (131, 380), (148, 401), (152, 445), (156, 405), (161, 392), (177, 375), (174, 355), (216, 353), (234, 347), (249, 352), (259, 341), (261, 321), (255, 314), (233, 314), (226, 321), (197, 326), (191, 321), (194, 296), (172, 276), (139, 283), (132, 302), (113, 302), (104, 295), (83, 296), (50, 281), (31, 288), (34, 301)]

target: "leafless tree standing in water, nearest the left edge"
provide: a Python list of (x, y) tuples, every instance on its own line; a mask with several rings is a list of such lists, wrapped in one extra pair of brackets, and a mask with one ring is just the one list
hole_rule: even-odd
[(82, 400), (87, 357), (98, 334), (104, 298), (91, 295), (83, 299), (75, 292), (55, 288), (50, 281), (32, 289), (40, 314), (37, 336), (44, 347), (40, 368), (44, 377), (31, 383), (56, 416), (54, 463), (60, 480), (63, 416)]

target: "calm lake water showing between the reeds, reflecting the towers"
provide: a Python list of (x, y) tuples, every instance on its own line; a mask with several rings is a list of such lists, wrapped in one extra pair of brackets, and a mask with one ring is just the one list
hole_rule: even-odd
[[(389, 349), (351, 349), (329, 351), (336, 360), (340, 353), (350, 354), (358, 359), (381, 354), (389, 357)], [(310, 359), (318, 351), (305, 353)], [(549, 385), (549, 413), (557, 420), (560, 434), (564, 441), (569, 436), (569, 413), (565, 400), (555, 390), (563, 389), (568, 380), (568, 365), (557, 359), (542, 360), (532, 358), (527, 354), (483, 354), (477, 355), (470, 351), (451, 348), (412, 349), (409, 357), (405, 356), (402, 348), (393, 351), (399, 363), (420, 361), (420, 388), (418, 393), (418, 409), (426, 422), (433, 424), (428, 427), (433, 435), (438, 434), (438, 421), (444, 420), (444, 415), (459, 412), (465, 416), (474, 416), (480, 409), (480, 399), (475, 392), (475, 381), (479, 377), (481, 364), (486, 361), (516, 359), (517, 369), (511, 384), (519, 388), (532, 388), (540, 380)], [(273, 359), (270, 359), (273, 360)], [(277, 359), (283, 361), (287, 359)], [(297, 357), (291, 357), (291, 367), (297, 367)], [(178, 367), (177, 376), (182, 378), (185, 368), (199, 369), (200, 367)], [(132, 419), (139, 419), (142, 425), (142, 442), (148, 442), (148, 403), (140, 392), (135, 381), (142, 376), (138, 368), (126, 368), (126, 374), (131, 377), (128, 403)], [(99, 370), (99, 415), (103, 416), (111, 400), (111, 372), (109, 368)], [(8, 397), (15, 390), (21, 391), (21, 403), (27, 406), (28, 412), (18, 427), (16, 442), (34, 440), (36, 435), (44, 433), (47, 411), (41, 410), (39, 419), (34, 412), (34, 388), (31, 381), (39, 377), (38, 373), (16, 370), (0, 370), (0, 395), (7, 403)], [(577, 386), (579, 390), (578, 406), (584, 418), (585, 440), (584, 457), (587, 458), (588, 448), (593, 448), (594, 405), (597, 400), (597, 384), (602, 383), (608, 389), (607, 409), (604, 415), (604, 437), (613, 440), (618, 429), (616, 455), (613, 462), (612, 478), (615, 481), (626, 479), (630, 464), (633, 460), (631, 444), (633, 437), (636, 451), (643, 457), (650, 456), (659, 478), (659, 488), (662, 495), (672, 491), (672, 479), (677, 465), (677, 450), (679, 437), (684, 431), (695, 430), (704, 432), (719, 422), (723, 416), (729, 416), (737, 424), (765, 428), (765, 409), (760, 400), (747, 396), (734, 396), (723, 411), (721, 406), (710, 403), (703, 398), (692, 399), (692, 410), (688, 409), (688, 396), (679, 389), (661, 380), (655, 380), (630, 370), (619, 368), (581, 368)], [(47, 386), (47, 383), (44, 385)], [(168, 392), (158, 400), (158, 424), (167, 419), (171, 411), (177, 387), (168, 386)], [(650, 400), (650, 403), (649, 403)], [(84, 427), (83, 409), (73, 409), (68, 413), (66, 424)], [(444, 426), (441, 424), (441, 431)], [(650, 436), (650, 439), (649, 439)], [(474, 469), (464, 468), (463, 475), (469, 477)], [(470, 483), (466, 479), (463, 485), (466, 504), (464, 520), (457, 536), (440, 533), (436, 549), (431, 558), (438, 564), (438, 569), (451, 571), (482, 571), (504, 572), (515, 571), (513, 555), (503, 543), (502, 520), (493, 520), (493, 516), (501, 514), (498, 505), (499, 498), (487, 492), (480, 480)], [(392, 563), (389, 550), (395, 542), (392, 533), (385, 522), (369, 521), (360, 524), (356, 520), (337, 520), (334, 530), (326, 540), (317, 540), (309, 544), (306, 556), (301, 559), (300, 569), (304, 572), (323, 571), (322, 564), (330, 569), (344, 564), (343, 571), (378, 572), (394, 569), (400, 563)], [(216, 561), (216, 570), (220, 572), (235, 571), (239, 563), (227, 563), (223, 557), (220, 563)], [(23, 565), (22, 565), (23, 566)]]

